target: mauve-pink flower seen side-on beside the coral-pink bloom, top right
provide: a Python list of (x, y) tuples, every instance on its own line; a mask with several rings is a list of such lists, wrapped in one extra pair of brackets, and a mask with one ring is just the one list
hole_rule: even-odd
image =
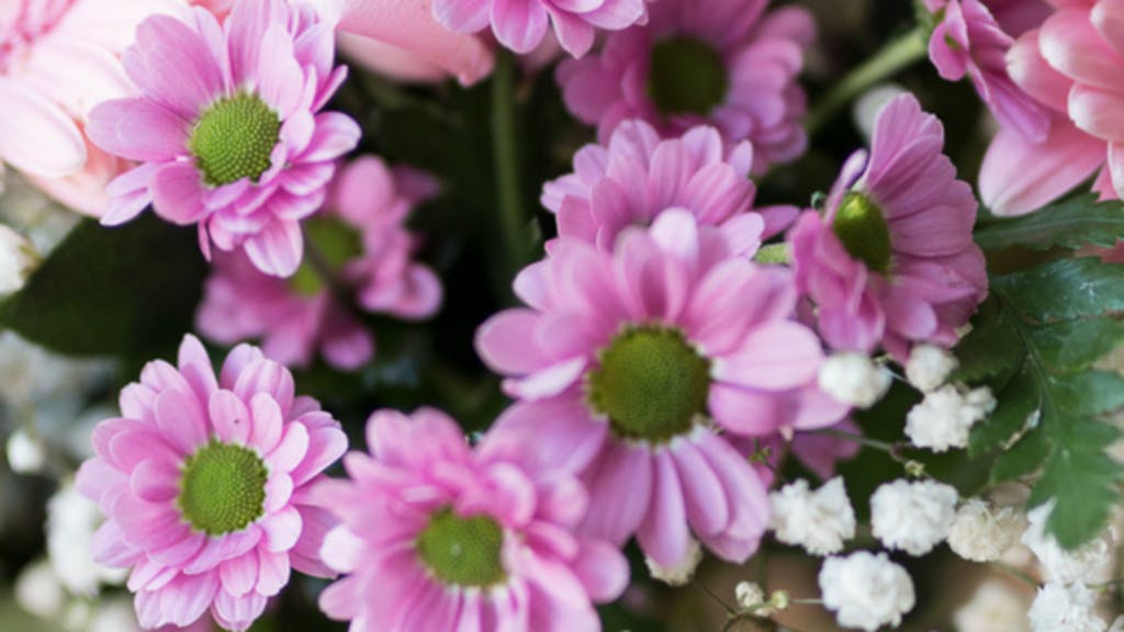
[(999, 26), (982, 0), (925, 0), (937, 24), (928, 40), (928, 56), (941, 76), (966, 75), (999, 125), (1041, 143), (1050, 130), (1049, 110), (1012, 81), (1007, 51), (1014, 39)]

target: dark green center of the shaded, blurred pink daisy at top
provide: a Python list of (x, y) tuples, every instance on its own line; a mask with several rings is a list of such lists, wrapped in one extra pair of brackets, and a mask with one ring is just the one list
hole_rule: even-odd
[(665, 115), (708, 115), (726, 99), (726, 64), (710, 44), (686, 35), (652, 47), (647, 94)]

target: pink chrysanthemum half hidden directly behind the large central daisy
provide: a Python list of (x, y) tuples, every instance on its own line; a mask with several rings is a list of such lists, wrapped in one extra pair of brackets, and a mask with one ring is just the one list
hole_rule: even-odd
[[(755, 251), (761, 238), (783, 229), (796, 207), (749, 213), (756, 187), (749, 179), (753, 146), (738, 143), (728, 156), (713, 127), (661, 141), (642, 120), (618, 126), (606, 145), (587, 145), (574, 155), (574, 172), (547, 182), (542, 202), (558, 216), (559, 235), (611, 251), (628, 226), (647, 226), (663, 210), (682, 208), (699, 224), (747, 233)], [(758, 238), (760, 237), (760, 238)]]

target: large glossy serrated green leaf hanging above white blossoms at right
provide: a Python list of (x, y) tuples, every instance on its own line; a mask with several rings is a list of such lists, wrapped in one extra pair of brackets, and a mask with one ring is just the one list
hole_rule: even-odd
[(1008, 448), (996, 482), (1041, 472), (1031, 504), (1054, 499), (1048, 531), (1078, 547), (1104, 529), (1124, 475), (1107, 453), (1118, 432), (1102, 421), (1124, 408), (1124, 377), (1091, 369), (1124, 340), (1124, 265), (1053, 261), (992, 277), (991, 292), (959, 349), (961, 373), (989, 380), (998, 400), (969, 454)]

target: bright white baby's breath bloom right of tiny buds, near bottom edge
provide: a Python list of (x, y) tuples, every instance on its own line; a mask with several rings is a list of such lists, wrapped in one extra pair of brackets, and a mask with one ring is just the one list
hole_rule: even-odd
[(913, 580), (906, 569), (886, 553), (856, 551), (845, 558), (827, 558), (819, 569), (824, 606), (835, 612), (840, 625), (873, 632), (897, 626), (913, 610)]

